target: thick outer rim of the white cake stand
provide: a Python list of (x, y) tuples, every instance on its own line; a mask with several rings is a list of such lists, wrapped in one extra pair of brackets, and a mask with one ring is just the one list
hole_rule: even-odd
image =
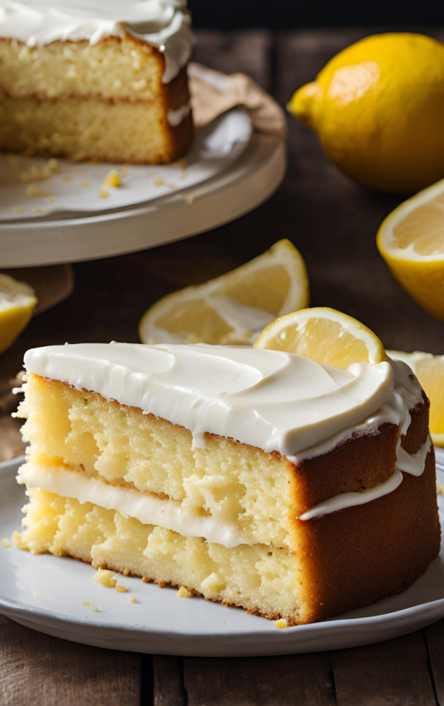
[(0, 223), (0, 267), (79, 262), (204, 232), (257, 208), (285, 174), (285, 142), (254, 133), (221, 174), (168, 196), (108, 212)]

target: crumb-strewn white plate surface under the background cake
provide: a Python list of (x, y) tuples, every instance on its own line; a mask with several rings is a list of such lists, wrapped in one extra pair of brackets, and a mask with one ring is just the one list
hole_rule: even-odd
[[(244, 152), (251, 136), (252, 121), (247, 110), (239, 107), (197, 131), (186, 155), (186, 166), (183, 161), (154, 167), (146, 164), (122, 167), (122, 164), (58, 160), (60, 173), (44, 181), (28, 177), (40, 190), (50, 192), (49, 196), (37, 198), (26, 195), (29, 181), (23, 183), (20, 176), (30, 174), (35, 167), (44, 167), (48, 160), (0, 155), (0, 222), (46, 220), (51, 214), (75, 217), (169, 196), (171, 191), (189, 189), (224, 172)], [(99, 189), (111, 169), (118, 172), (122, 186), (104, 187), (109, 196), (101, 198)]]

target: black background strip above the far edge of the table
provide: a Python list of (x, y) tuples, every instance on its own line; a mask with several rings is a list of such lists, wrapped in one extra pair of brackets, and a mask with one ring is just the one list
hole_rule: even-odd
[(263, 27), (443, 25), (441, 0), (188, 0), (195, 28), (230, 30)]

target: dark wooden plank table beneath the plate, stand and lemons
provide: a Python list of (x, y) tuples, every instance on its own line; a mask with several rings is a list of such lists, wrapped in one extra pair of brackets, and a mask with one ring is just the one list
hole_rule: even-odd
[[(249, 73), (285, 104), (335, 52), (368, 33), (199, 32), (195, 56), (221, 71)], [(430, 33), (444, 39), (444, 31)], [(15, 375), (31, 346), (137, 341), (137, 321), (153, 301), (223, 273), (283, 237), (307, 262), (312, 305), (356, 316), (388, 348), (443, 353), (443, 325), (409, 299), (376, 251), (376, 229), (400, 199), (366, 191), (340, 174), (314, 134), (292, 119), (288, 159), (276, 195), (230, 225), (154, 251), (75, 265), (73, 296), (32, 321), (1, 356), (0, 378)], [(75, 645), (0, 616), (0, 704), (28, 703), (444, 706), (444, 621), (353, 650), (182, 659)]]

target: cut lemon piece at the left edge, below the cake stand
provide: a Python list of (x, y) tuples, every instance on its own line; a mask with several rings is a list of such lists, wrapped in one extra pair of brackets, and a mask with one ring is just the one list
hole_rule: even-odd
[(0, 273), (0, 353), (6, 351), (23, 331), (37, 304), (34, 289)]

